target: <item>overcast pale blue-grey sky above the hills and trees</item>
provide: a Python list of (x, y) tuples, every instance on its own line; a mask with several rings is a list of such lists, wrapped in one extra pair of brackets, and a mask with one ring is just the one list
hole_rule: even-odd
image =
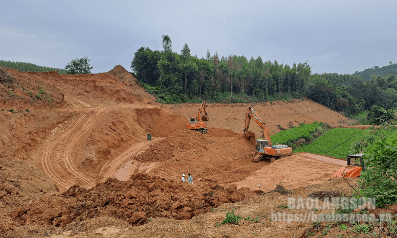
[(88, 57), (93, 73), (130, 71), (141, 47), (353, 74), (397, 62), (396, 0), (2, 1), (0, 60), (64, 68)]

